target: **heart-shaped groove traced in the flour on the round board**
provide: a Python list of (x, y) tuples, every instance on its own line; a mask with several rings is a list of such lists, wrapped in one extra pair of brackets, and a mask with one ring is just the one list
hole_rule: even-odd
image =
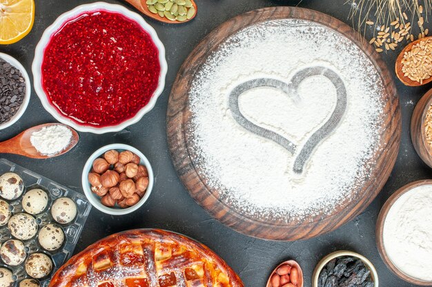
[(294, 154), (297, 149), (297, 145), (295, 145), (291, 140), (288, 140), (284, 136), (271, 131), (270, 129), (265, 129), (264, 127), (259, 127), (248, 120), (239, 109), (239, 96), (244, 94), (250, 89), (255, 89), (258, 87), (273, 87), (275, 89), (279, 89), (284, 92), (291, 98), (298, 98), (299, 94), (297, 93), (297, 89), (300, 86), (300, 83), (304, 81), (304, 79), (310, 76), (322, 75), (328, 78), (328, 80), (333, 83), (336, 88), (336, 105), (335, 109), (333, 109), (330, 118), (321, 125), (317, 131), (315, 131), (309, 138), (306, 140), (306, 143), (298, 153), (297, 158), (294, 161), (293, 170), (295, 173), (302, 173), (304, 169), (304, 164), (308, 158), (311, 157), (311, 153), (313, 149), (320, 143), (328, 134), (337, 127), (344, 115), (346, 109), (346, 88), (344, 82), (333, 70), (330, 70), (326, 67), (307, 67), (304, 70), (300, 70), (296, 74), (294, 74), (291, 79), (291, 83), (287, 84), (283, 81), (279, 81), (274, 78), (255, 78), (250, 81), (246, 81), (240, 85), (237, 85), (229, 95), (229, 109), (231, 114), (233, 114), (234, 119), (247, 129), (248, 131), (257, 134), (258, 136), (262, 136), (264, 138), (268, 138), (269, 140), (273, 140), (277, 142), (277, 144), (284, 147), (290, 153)]

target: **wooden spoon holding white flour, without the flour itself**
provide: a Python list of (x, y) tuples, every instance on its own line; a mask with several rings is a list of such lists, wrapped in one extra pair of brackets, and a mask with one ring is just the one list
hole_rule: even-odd
[(63, 124), (48, 123), (43, 125), (37, 125), (36, 127), (30, 127), (30, 129), (23, 131), (18, 136), (15, 136), (10, 140), (0, 142), (0, 153), (14, 153), (19, 154), (20, 156), (26, 156), (28, 158), (54, 158), (55, 156), (61, 156), (63, 153), (70, 151), (72, 147), (75, 147), (75, 145), (77, 145), (77, 142), (79, 140), (77, 131), (75, 131), (75, 129), (72, 129), (72, 127), (69, 127), (68, 125), (63, 125), (64, 127), (70, 129), (70, 131), (72, 131), (72, 138), (70, 139), (70, 143), (66, 147), (66, 149), (63, 149), (63, 151), (55, 153), (54, 155), (45, 155), (39, 153), (39, 151), (37, 151), (37, 149), (35, 149), (35, 147), (33, 147), (32, 143), (30, 142), (30, 136), (32, 136), (35, 131), (40, 131), (43, 127), (49, 127), (52, 125)]

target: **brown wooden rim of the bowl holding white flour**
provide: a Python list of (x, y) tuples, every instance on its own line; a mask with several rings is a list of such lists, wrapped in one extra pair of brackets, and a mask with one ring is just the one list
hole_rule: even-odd
[(423, 281), (420, 279), (416, 279), (414, 277), (411, 277), (409, 275), (406, 275), (402, 272), (399, 268), (391, 262), (389, 255), (387, 255), (386, 250), (384, 248), (384, 240), (383, 240), (383, 231), (384, 231), (384, 222), (386, 221), (387, 214), (389, 214), (389, 211), (391, 209), (391, 206), (395, 204), (395, 202), (405, 193), (415, 189), (416, 187), (422, 187), (424, 185), (431, 185), (432, 186), (432, 180), (417, 180), (415, 182), (410, 182), (409, 184), (405, 184), (400, 189), (397, 189), (388, 200), (384, 203), (382, 206), (382, 209), (380, 211), (380, 214), (378, 215), (377, 219), (377, 225), (375, 229), (376, 233), (376, 242), (377, 242), (377, 249), (380, 253), (382, 261), (386, 264), (386, 266), (395, 274), (397, 277), (400, 277), (404, 281), (407, 281), (411, 284), (420, 285), (420, 286), (432, 286), (432, 281)]

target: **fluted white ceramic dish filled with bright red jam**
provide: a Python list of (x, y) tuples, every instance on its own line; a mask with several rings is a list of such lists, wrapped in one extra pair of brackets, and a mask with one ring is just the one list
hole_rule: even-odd
[(104, 134), (137, 123), (164, 90), (165, 48), (124, 6), (78, 6), (50, 25), (32, 63), (43, 107), (77, 131)]

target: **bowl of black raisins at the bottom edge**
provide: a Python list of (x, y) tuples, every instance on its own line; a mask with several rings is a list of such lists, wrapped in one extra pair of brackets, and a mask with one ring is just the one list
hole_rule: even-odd
[(315, 267), (312, 287), (378, 287), (373, 264), (358, 253), (336, 251), (324, 257)]

